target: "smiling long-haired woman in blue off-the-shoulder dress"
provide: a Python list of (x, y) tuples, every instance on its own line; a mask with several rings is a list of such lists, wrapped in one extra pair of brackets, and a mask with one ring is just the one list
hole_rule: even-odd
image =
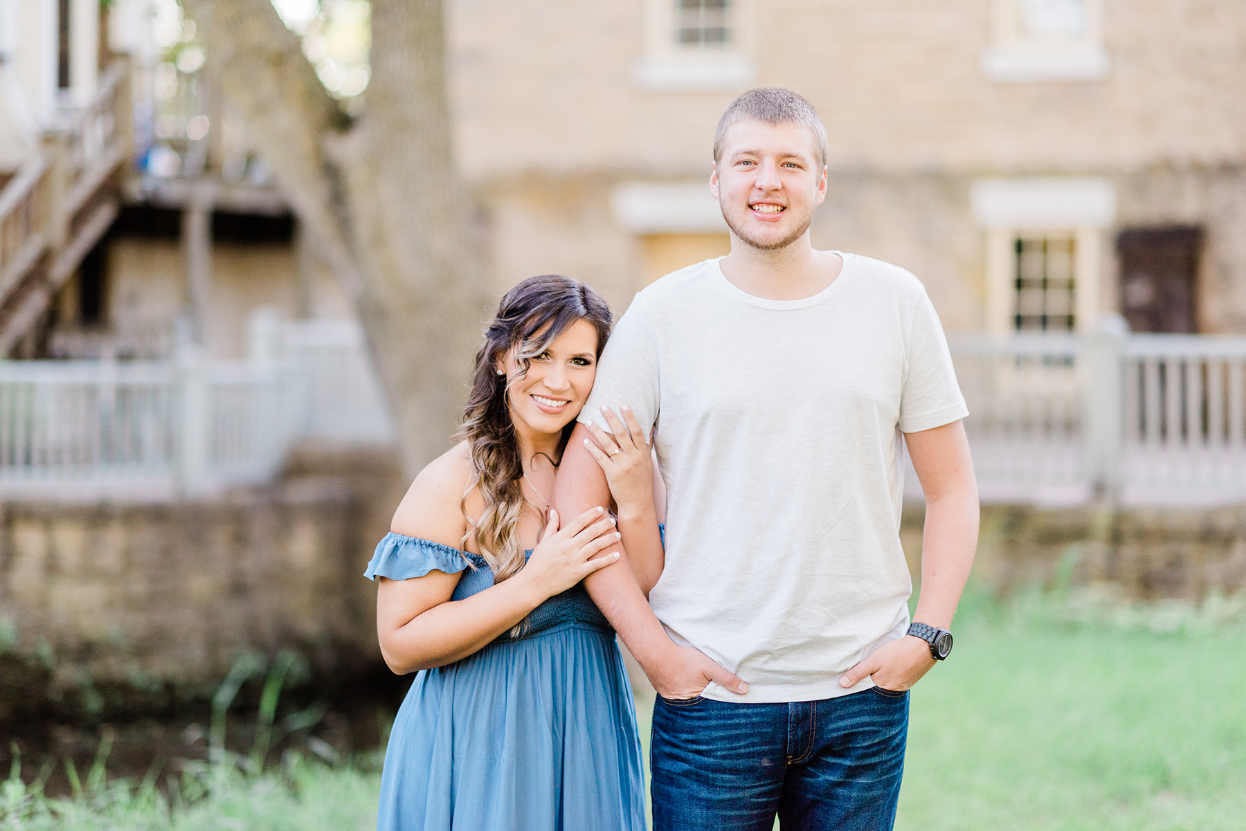
[[(395, 673), (424, 670), (390, 734), (381, 831), (645, 827), (627, 674), (579, 586), (616, 562), (602, 552), (619, 532), (601, 508), (559, 527), (546, 498), (609, 326), (571, 278), (511, 289), (476, 355), (460, 444), (415, 478), (376, 547), (381, 654)], [(607, 446), (602, 460), (625, 462), (613, 486), (652, 511), (644, 440)]]

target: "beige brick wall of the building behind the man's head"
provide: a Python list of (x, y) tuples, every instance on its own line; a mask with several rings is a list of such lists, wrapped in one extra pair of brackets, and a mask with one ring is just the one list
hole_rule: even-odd
[[(701, 178), (734, 97), (635, 85), (644, 0), (450, 6), (459, 164), (490, 223), (498, 290), (563, 270), (616, 309), (645, 279), (643, 239), (608, 192), (627, 179)], [(1105, 80), (998, 83), (979, 54), (991, 0), (756, 0), (758, 85), (786, 85), (830, 133), (830, 193), (814, 242), (917, 274), (948, 330), (982, 328), (978, 176), (1091, 174), (1116, 183), (1100, 306), (1114, 309), (1115, 232), (1197, 223), (1205, 331), (1246, 331), (1246, 5), (1105, 0)]]

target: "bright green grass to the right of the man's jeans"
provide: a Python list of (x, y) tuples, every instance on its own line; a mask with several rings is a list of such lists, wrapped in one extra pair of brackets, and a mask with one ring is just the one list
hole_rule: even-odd
[(962, 615), (913, 690), (897, 829), (1246, 827), (1240, 607), (1019, 607)]

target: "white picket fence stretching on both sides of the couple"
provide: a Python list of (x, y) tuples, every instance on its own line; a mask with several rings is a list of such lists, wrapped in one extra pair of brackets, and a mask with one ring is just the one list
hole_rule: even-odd
[[(984, 502), (1246, 501), (1246, 338), (949, 339)], [(163, 500), (270, 480), (300, 440), (392, 444), (350, 321), (257, 314), (245, 361), (0, 361), (0, 497)], [(906, 480), (920, 495), (916, 476)]]

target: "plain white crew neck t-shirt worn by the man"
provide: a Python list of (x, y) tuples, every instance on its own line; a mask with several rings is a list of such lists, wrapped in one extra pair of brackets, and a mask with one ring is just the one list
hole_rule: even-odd
[(658, 426), (667, 554), (649, 603), (750, 685), (710, 699), (867, 689), (840, 675), (908, 627), (901, 432), (968, 411), (917, 278), (840, 255), (797, 300), (743, 292), (716, 259), (660, 278), (614, 328), (581, 415), (627, 404)]

